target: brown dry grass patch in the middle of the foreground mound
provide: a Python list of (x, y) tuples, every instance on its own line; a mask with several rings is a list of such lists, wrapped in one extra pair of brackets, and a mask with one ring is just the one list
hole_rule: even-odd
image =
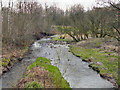
[(19, 88), (26, 87), (28, 82), (37, 81), (39, 84), (44, 86), (45, 88), (53, 88), (55, 87), (52, 79), (49, 77), (49, 72), (45, 70), (43, 67), (34, 67), (31, 70), (26, 72), (26, 76), (22, 79), (17, 85)]

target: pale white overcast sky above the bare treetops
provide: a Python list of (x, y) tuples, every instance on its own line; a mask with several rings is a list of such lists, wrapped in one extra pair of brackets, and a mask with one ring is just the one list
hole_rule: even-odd
[[(16, 3), (17, 1), (20, 0), (11, 0), (14, 3)], [(93, 6), (97, 6), (96, 5), (96, 0), (22, 0), (22, 1), (38, 1), (40, 2), (42, 5), (44, 5), (45, 3), (47, 3), (47, 5), (53, 5), (56, 4), (57, 7), (66, 10), (67, 8), (69, 8), (70, 6), (74, 5), (74, 4), (81, 4), (82, 6), (84, 6), (85, 10), (87, 10), (88, 8), (91, 8)], [(8, 5), (9, 0), (2, 0), (3, 5)]]

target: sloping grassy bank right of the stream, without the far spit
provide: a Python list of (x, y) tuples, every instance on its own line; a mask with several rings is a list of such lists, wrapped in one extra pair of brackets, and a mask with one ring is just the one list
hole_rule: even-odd
[[(106, 40), (86, 40), (70, 46), (70, 52), (89, 62), (89, 66), (96, 70), (103, 78), (111, 81), (115, 86), (120, 84), (118, 80), (118, 54), (113, 49), (106, 49)], [(109, 44), (108, 44), (109, 45)], [(107, 46), (108, 46), (107, 45)], [(116, 82), (112, 81), (115, 79)]]

